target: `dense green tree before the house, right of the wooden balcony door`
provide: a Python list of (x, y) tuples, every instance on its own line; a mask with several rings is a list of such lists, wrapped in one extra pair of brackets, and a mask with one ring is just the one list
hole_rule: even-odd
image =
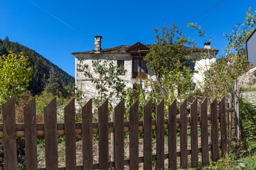
[[(144, 57), (146, 66), (156, 76), (156, 81), (151, 79), (149, 82), (154, 90), (154, 95), (160, 98), (169, 98), (169, 93), (174, 96), (175, 91), (185, 94), (187, 89), (185, 91), (184, 88), (179, 88), (183, 80), (190, 83), (188, 86), (192, 85), (191, 76), (188, 76), (192, 72), (185, 66), (185, 57), (191, 54), (192, 48), (185, 45), (193, 45), (193, 41), (186, 38), (176, 24), (173, 24), (170, 29), (164, 26), (161, 30), (155, 28), (154, 31), (156, 45), (153, 45), (150, 52)], [(174, 81), (177, 78), (179, 81)], [(155, 94), (157, 91), (160, 95)]]

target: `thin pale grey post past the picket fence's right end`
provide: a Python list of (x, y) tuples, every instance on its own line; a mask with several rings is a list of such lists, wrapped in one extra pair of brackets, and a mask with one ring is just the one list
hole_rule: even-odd
[(235, 80), (235, 136), (239, 140), (239, 85), (238, 81)]

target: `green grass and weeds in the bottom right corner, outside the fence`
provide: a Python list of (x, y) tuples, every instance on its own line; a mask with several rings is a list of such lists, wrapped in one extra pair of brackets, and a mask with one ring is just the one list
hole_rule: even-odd
[[(247, 89), (256, 91), (256, 89)], [(210, 162), (208, 166), (195, 169), (256, 169), (256, 107), (240, 98), (240, 141), (231, 142), (228, 153), (218, 162)], [(192, 169), (192, 168), (190, 168)]]

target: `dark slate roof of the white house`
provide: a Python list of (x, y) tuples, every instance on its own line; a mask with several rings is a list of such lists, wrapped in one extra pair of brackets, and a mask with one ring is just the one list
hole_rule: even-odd
[[(117, 47), (111, 47), (107, 49), (101, 49), (100, 52), (96, 52), (95, 50), (85, 51), (85, 52), (72, 52), (72, 55), (80, 55), (80, 54), (127, 54), (131, 50), (134, 49), (135, 46), (142, 47), (141, 50), (146, 50), (147, 48), (150, 49), (152, 45), (143, 45), (141, 42), (136, 42), (134, 45), (119, 45)], [(186, 46), (185, 46), (186, 47)], [(191, 48), (193, 52), (205, 52), (207, 49), (205, 48), (198, 48), (198, 47), (187, 47)], [(214, 50), (216, 54), (219, 50)]]

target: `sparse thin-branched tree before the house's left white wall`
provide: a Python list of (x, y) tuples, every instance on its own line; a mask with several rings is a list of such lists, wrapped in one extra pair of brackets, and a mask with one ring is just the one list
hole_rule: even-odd
[[(122, 98), (124, 96), (125, 84), (119, 76), (123, 75), (126, 70), (117, 66), (116, 60), (106, 57), (105, 60), (92, 61), (92, 68), (88, 64), (82, 64), (82, 60), (78, 64), (78, 72), (81, 72), (85, 79), (90, 79), (95, 85), (98, 96), (94, 99), (96, 106), (99, 106), (102, 101), (107, 98), (110, 100), (110, 105), (113, 96)], [(78, 91), (78, 93), (82, 91)], [(111, 107), (111, 106), (110, 106)]]

